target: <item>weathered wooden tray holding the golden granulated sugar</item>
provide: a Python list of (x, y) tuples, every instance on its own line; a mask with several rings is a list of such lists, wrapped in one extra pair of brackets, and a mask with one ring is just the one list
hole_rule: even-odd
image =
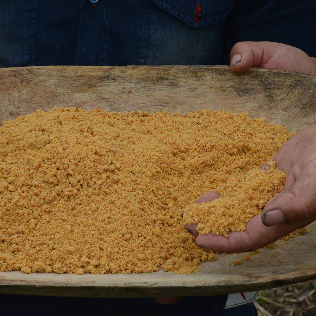
[[(192, 112), (207, 108), (248, 112), (297, 131), (316, 122), (316, 76), (253, 69), (234, 75), (228, 67), (128, 66), (0, 69), (0, 121), (54, 106), (104, 111)], [(0, 272), (0, 292), (29, 295), (153, 297), (215, 295), (266, 289), (316, 277), (316, 233), (275, 248), (219, 256), (203, 271), (176, 275), (58, 275)], [(243, 264), (232, 266), (241, 259)], [(210, 271), (210, 273), (208, 273)]]

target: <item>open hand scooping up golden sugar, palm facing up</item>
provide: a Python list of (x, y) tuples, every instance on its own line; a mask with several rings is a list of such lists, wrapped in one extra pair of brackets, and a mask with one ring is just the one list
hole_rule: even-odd
[[(244, 232), (198, 235), (196, 225), (187, 229), (196, 235), (199, 247), (215, 252), (247, 252), (269, 245), (316, 220), (316, 124), (291, 137), (273, 157), (276, 167), (287, 174), (283, 190), (254, 216)], [(219, 197), (208, 192), (198, 203)]]

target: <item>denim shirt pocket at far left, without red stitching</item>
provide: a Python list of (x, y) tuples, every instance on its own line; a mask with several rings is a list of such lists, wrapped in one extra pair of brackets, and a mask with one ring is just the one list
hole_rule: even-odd
[(0, 67), (35, 66), (38, 0), (12, 1), (0, 10)]

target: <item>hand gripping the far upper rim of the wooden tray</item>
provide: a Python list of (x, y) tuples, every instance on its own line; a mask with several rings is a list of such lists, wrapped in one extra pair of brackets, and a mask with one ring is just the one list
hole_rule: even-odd
[(235, 74), (251, 67), (283, 69), (316, 75), (316, 58), (300, 49), (275, 42), (239, 42), (230, 52), (230, 70)]

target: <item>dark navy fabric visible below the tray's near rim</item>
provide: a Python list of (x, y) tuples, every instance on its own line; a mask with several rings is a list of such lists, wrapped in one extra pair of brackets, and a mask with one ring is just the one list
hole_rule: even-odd
[(161, 305), (152, 298), (78, 298), (0, 294), (5, 316), (258, 316), (253, 304), (224, 309), (227, 295), (184, 297)]

